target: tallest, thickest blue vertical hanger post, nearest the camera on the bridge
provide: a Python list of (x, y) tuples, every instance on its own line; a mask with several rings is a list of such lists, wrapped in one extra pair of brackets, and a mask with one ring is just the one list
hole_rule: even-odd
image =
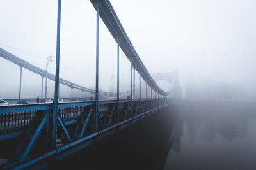
[(55, 69), (55, 92), (53, 103), (53, 148), (56, 148), (57, 141), (57, 117), (59, 103), (59, 71), (60, 71), (60, 21), (61, 21), (61, 0), (58, 0), (58, 18), (57, 18), (57, 42), (56, 42), (56, 69)]

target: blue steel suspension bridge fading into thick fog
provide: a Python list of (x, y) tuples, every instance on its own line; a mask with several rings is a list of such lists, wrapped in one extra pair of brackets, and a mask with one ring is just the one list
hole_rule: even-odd
[[(131, 125), (133, 122), (140, 122), (142, 118), (163, 110), (173, 104), (175, 97), (180, 96), (177, 71), (173, 71), (171, 74), (161, 74), (161, 76), (156, 74), (150, 76), (125, 33), (111, 3), (108, 0), (91, 0), (91, 2), (96, 10), (97, 19), (95, 89), (89, 89), (59, 77), (61, 0), (58, 0), (55, 75), (47, 74), (46, 71), (0, 48), (1, 57), (20, 66), (20, 86), (23, 68), (42, 76), (42, 80), (45, 76), (48, 76), (50, 80), (55, 81), (52, 103), (13, 104), (0, 107), (0, 142), (10, 141), (10, 143), (14, 143), (13, 149), (5, 148), (1, 150), (1, 157), (8, 159), (7, 162), (1, 164), (1, 168), (23, 169), (47, 166), (53, 160), (61, 160), (110, 134), (120, 131), (120, 129)], [(111, 99), (101, 99), (100, 95), (106, 97), (113, 94), (99, 92), (99, 17), (115, 39), (117, 46), (116, 98), (111, 97)], [(120, 98), (120, 49), (131, 62), (131, 76), (129, 78), (131, 83), (128, 99)], [(138, 87), (135, 87), (135, 71), (138, 71), (140, 77)], [(145, 97), (141, 97), (141, 78), (146, 83)], [(167, 91), (161, 89), (154, 81), (157, 78), (172, 81), (170, 89)], [(79, 99), (81, 101), (73, 100), (59, 103), (60, 83), (71, 89), (89, 92), (93, 95), (93, 99), (86, 101), (82, 97), (82, 99)], [(135, 89), (139, 89), (139, 94), (136, 97), (134, 97)], [(20, 93), (19, 91), (18, 100), (22, 102), (25, 99), (20, 99)]]

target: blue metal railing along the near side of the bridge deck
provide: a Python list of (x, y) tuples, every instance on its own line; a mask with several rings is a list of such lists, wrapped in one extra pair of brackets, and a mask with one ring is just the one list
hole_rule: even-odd
[[(120, 100), (120, 119), (122, 121), (131, 118), (134, 115), (139, 115), (143, 111), (152, 110), (161, 106), (164, 103), (163, 99), (133, 99), (132, 100), (132, 113), (128, 114), (131, 111), (129, 104), (131, 101), (129, 99)], [(60, 113), (61, 118), (65, 122), (65, 125), (77, 124), (79, 118), (84, 113), (84, 107), (91, 108), (95, 105), (95, 101), (77, 101), (72, 103), (59, 103), (58, 112)], [(109, 121), (109, 117), (116, 117), (116, 108), (113, 109), (113, 106), (116, 105), (116, 100), (112, 101), (99, 101), (99, 115), (102, 119), (102, 124), (104, 123), (101, 129), (108, 127), (114, 123)], [(20, 104), (20, 105), (9, 105), (0, 107), (0, 141), (4, 138), (6, 133), (12, 134), (16, 131), (24, 131), (26, 127), (29, 126), (29, 123), (36, 114), (40, 114), (40, 111), (48, 111), (52, 114), (52, 103), (47, 104)], [(112, 109), (112, 110), (111, 110)], [(85, 111), (86, 112), (86, 111)], [(85, 113), (87, 114), (87, 113)], [(108, 115), (110, 114), (110, 115)], [(114, 115), (115, 114), (115, 115)], [(107, 122), (107, 123), (106, 123)], [(22, 133), (13, 133), (12, 138), (17, 137)], [(10, 136), (8, 139), (11, 139)]]

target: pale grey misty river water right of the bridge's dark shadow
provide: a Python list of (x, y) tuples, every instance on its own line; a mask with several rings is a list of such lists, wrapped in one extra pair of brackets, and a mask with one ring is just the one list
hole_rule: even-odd
[(240, 107), (180, 106), (164, 169), (256, 169), (256, 117)]

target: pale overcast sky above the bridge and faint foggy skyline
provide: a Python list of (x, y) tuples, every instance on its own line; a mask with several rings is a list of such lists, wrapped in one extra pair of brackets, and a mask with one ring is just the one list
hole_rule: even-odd
[[(182, 86), (186, 78), (193, 76), (198, 82), (255, 87), (256, 1), (113, 0), (111, 3), (150, 73), (177, 69)], [(57, 0), (1, 0), (0, 47), (42, 69), (47, 56), (52, 55), (55, 62), (56, 5)], [(94, 87), (95, 29), (96, 11), (90, 1), (62, 1), (61, 78)], [(99, 31), (99, 86), (108, 91), (111, 74), (115, 74), (113, 83), (116, 83), (116, 42), (101, 20)], [(54, 62), (49, 64), (52, 74)], [(0, 58), (0, 73), (0, 98), (18, 97), (19, 66)], [(27, 70), (23, 73), (22, 96), (39, 96), (41, 77)], [(129, 61), (121, 52), (121, 89), (128, 82)], [(35, 87), (33, 93), (31, 85)], [(53, 87), (54, 83), (49, 81), (49, 88)]]

